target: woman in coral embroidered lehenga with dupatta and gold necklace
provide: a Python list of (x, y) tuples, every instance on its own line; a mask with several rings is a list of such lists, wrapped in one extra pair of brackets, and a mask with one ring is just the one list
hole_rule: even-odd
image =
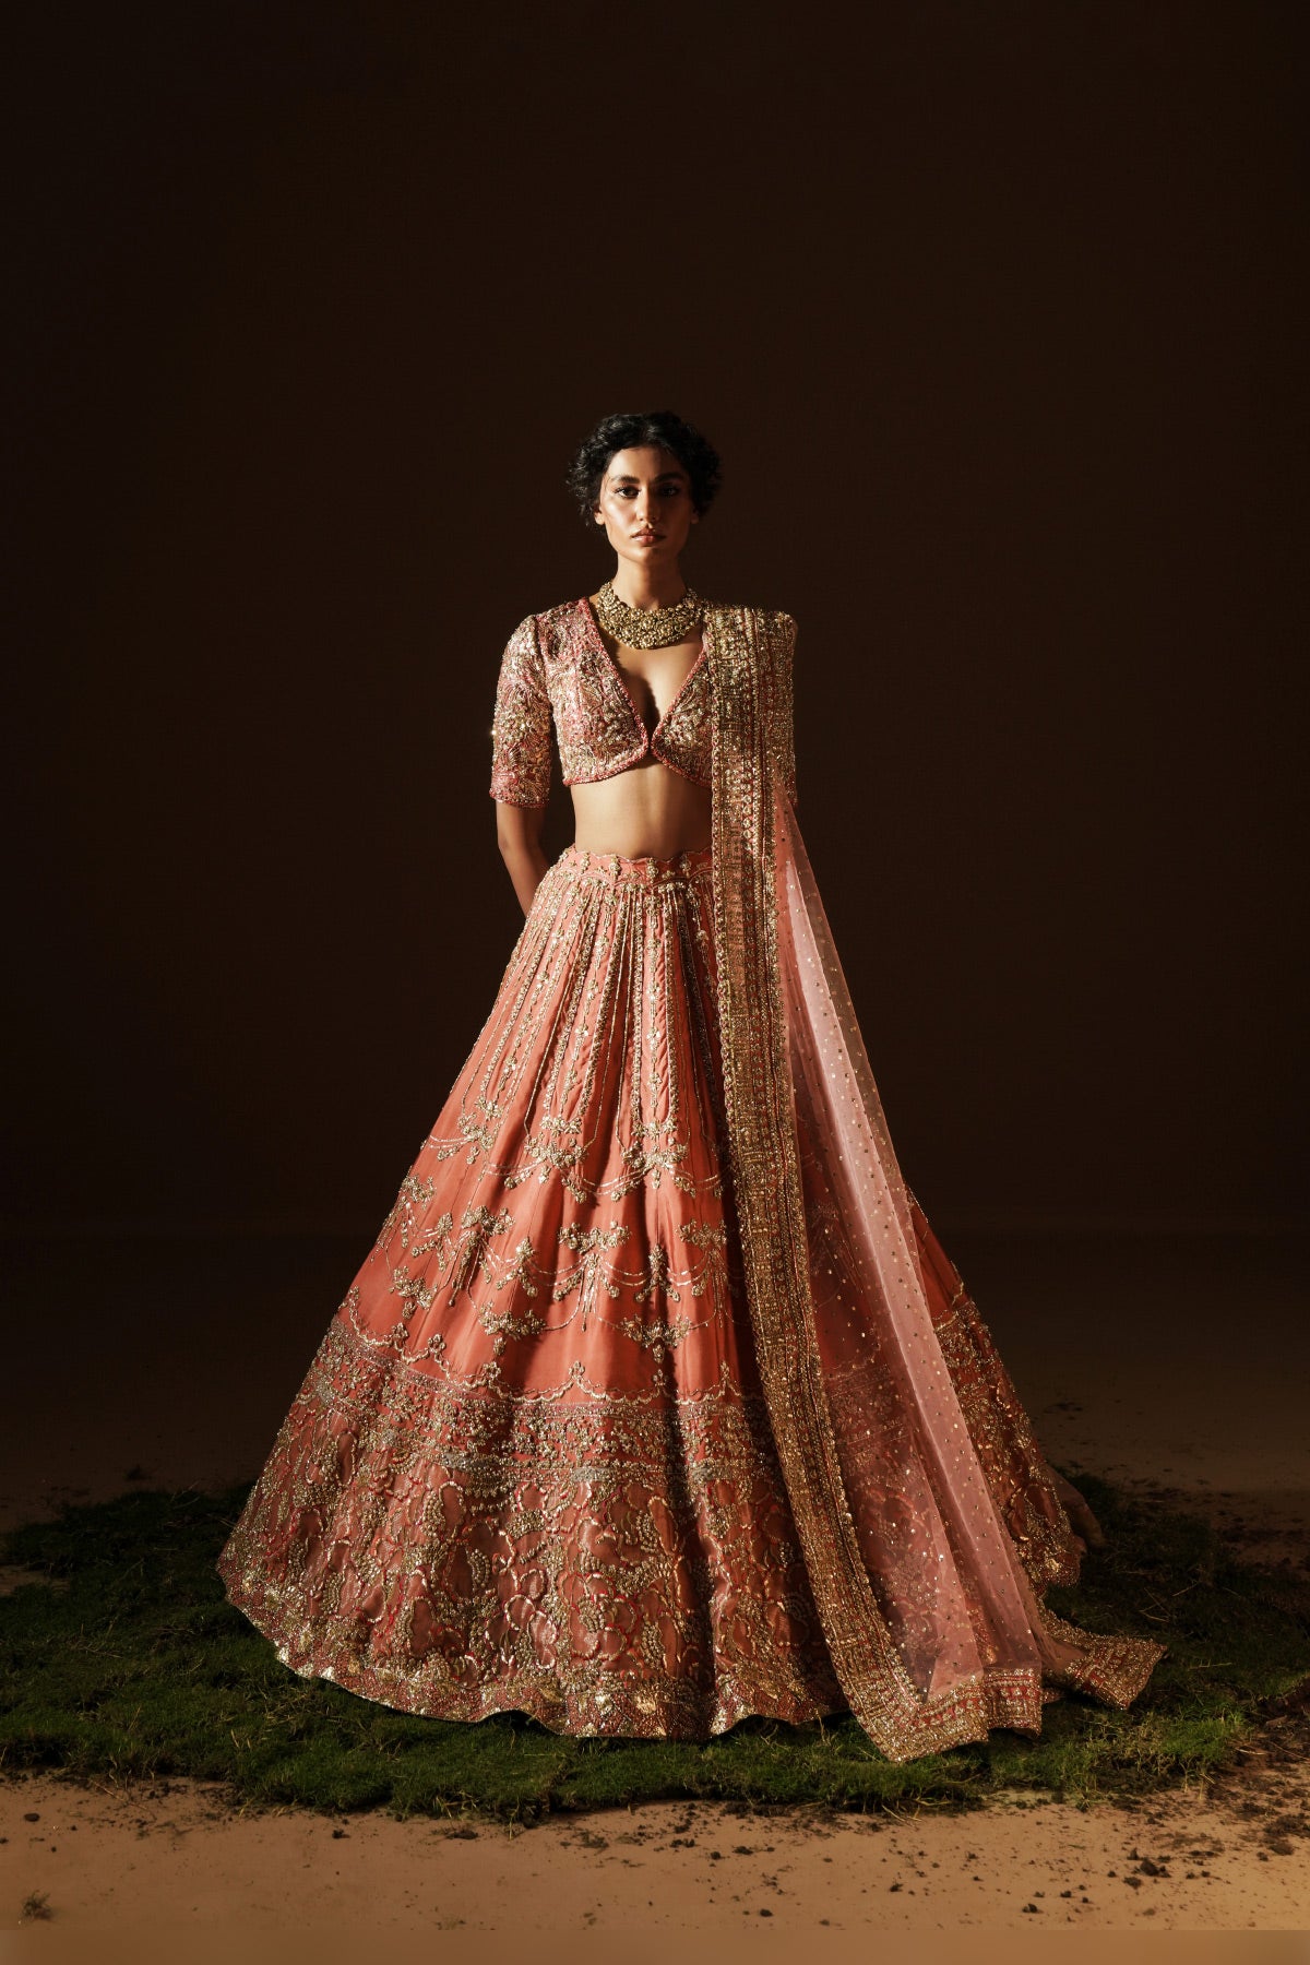
[(515, 629), (493, 721), (524, 927), (220, 1570), (407, 1712), (852, 1712), (911, 1759), (1123, 1706), (1161, 1647), (1041, 1601), (1098, 1531), (900, 1177), (793, 817), (795, 623), (682, 576), (717, 477), (666, 411), (575, 458), (615, 572)]

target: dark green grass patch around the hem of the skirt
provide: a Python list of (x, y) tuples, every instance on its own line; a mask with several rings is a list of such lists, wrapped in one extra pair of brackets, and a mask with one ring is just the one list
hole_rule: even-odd
[(742, 1810), (958, 1808), (1000, 1790), (1127, 1798), (1222, 1767), (1310, 1674), (1310, 1582), (1239, 1564), (1198, 1519), (1080, 1476), (1108, 1546), (1051, 1594), (1088, 1629), (1163, 1639), (1169, 1656), (1125, 1713), (1070, 1696), (1041, 1739), (894, 1765), (852, 1719), (746, 1719), (705, 1745), (570, 1739), (520, 1713), (418, 1719), (302, 1680), (232, 1609), (214, 1560), (246, 1499), (130, 1493), (4, 1539), (2, 1560), (65, 1588), (0, 1600), (0, 1767), (75, 1776), (189, 1774), (249, 1802), (491, 1814), (638, 1800)]

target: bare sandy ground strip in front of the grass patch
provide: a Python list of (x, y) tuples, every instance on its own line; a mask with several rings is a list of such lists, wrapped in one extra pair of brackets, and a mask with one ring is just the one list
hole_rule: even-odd
[(31, 1776), (0, 1788), (0, 1904), (10, 1930), (39, 1894), (65, 1934), (230, 1920), (387, 1943), (462, 1934), (505, 1955), (540, 1936), (634, 1930), (664, 1955), (687, 1936), (737, 1945), (746, 1930), (833, 1955), (874, 1932), (1296, 1932), (1310, 1928), (1306, 1786), (1302, 1739), (1288, 1767), (1137, 1812), (1010, 1798), (866, 1820), (660, 1802), (511, 1831), (238, 1814), (191, 1782)]

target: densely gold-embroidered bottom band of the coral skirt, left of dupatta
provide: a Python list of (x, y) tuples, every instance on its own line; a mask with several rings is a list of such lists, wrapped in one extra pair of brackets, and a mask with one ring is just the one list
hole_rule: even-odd
[(756, 1397), (469, 1395), (334, 1320), (220, 1560), (304, 1676), (705, 1739), (843, 1708)]

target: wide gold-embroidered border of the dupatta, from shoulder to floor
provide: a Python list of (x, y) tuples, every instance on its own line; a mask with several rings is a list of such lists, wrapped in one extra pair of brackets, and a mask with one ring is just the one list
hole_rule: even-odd
[[(894, 1631), (878, 1598), (878, 1562), (864, 1556), (862, 1533), (874, 1544), (878, 1535), (913, 1535), (915, 1503), (909, 1499), (898, 1519), (894, 1495), (872, 1493), (858, 1472), (852, 1472), (858, 1488), (848, 1491), (835, 1415), (846, 1438), (856, 1413), (868, 1415), (864, 1434), (878, 1440), (878, 1460), (888, 1466), (896, 1401), (884, 1399), (878, 1409), (880, 1381), (870, 1368), (858, 1376), (833, 1372), (825, 1381), (813, 1326), (813, 1252), (790, 1098), (774, 890), (774, 792), (793, 790), (790, 664), (795, 623), (764, 609), (711, 609), (707, 633), (715, 662), (715, 941), (733, 1193), (764, 1399), (833, 1666), (852, 1713), (890, 1759), (980, 1739), (994, 1725), (1037, 1731), (1041, 1670), (988, 1668), (982, 1629), (974, 1631), (982, 1670), (962, 1674), (937, 1696), (917, 1692), (898, 1637), (925, 1615), (933, 1576), (921, 1560), (919, 1601), (913, 1590), (905, 1594), (896, 1605), (900, 1629)], [(831, 1224), (821, 1220), (819, 1228), (827, 1232)], [(860, 1501), (860, 1527), (852, 1493)], [(1033, 1615), (1049, 1641), (1070, 1633), (1037, 1601)], [(1141, 1690), (1159, 1656), (1159, 1647), (1141, 1639), (1082, 1631), (1072, 1633), (1070, 1643), (1078, 1647), (1076, 1662), (1051, 1670), (1049, 1678), (1096, 1684), (1102, 1696), (1119, 1704)]]

